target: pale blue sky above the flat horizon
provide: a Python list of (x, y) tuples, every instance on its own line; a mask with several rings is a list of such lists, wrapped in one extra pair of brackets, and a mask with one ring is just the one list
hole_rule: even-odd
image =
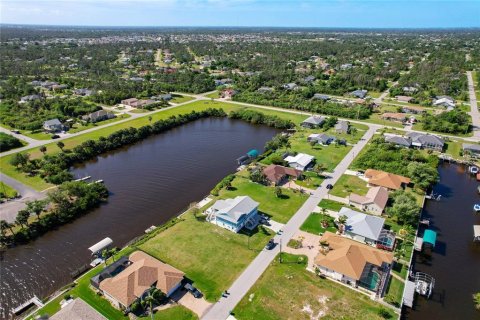
[(480, 0), (0, 0), (0, 22), (76, 26), (480, 27)]

